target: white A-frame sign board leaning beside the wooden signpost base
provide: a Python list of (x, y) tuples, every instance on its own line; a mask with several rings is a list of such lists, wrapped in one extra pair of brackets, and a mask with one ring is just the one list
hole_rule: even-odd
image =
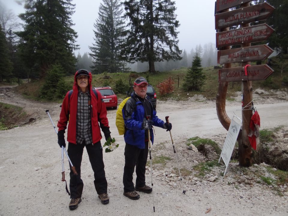
[[(234, 116), (233, 116), (233, 118), (234, 118)], [(236, 116), (236, 118), (239, 119), (237, 116)], [(241, 121), (241, 119), (239, 119), (239, 120)], [(218, 161), (218, 163), (220, 163), (220, 160), (222, 158), (225, 165), (226, 165), (226, 169), (225, 169), (223, 176), (225, 176), (225, 174), (226, 174), (226, 171), (227, 171), (227, 168), (229, 165), (229, 161), (230, 161), (230, 158), (231, 158), (231, 155), (232, 155), (232, 152), (233, 152), (233, 149), (234, 149), (234, 146), (235, 146), (235, 143), (236, 143), (239, 131), (240, 131), (241, 123), (239, 124), (239, 123), (235, 122), (234, 119), (231, 120), (229, 130), (227, 133), (227, 137), (225, 139), (223, 149), (222, 149), (219, 161)]]

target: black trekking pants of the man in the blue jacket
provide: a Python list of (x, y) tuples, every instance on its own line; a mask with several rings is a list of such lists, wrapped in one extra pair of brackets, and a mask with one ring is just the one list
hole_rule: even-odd
[(133, 173), (136, 166), (136, 187), (145, 185), (145, 166), (148, 156), (148, 141), (145, 142), (145, 149), (139, 149), (136, 146), (126, 143), (125, 146), (125, 166), (123, 174), (124, 192), (135, 190), (133, 184)]

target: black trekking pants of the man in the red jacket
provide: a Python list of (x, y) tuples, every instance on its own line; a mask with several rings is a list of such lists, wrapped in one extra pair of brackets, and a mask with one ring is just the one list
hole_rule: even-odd
[(91, 163), (92, 170), (94, 171), (94, 185), (97, 191), (97, 194), (107, 193), (107, 180), (105, 177), (104, 171), (104, 162), (103, 162), (103, 149), (101, 142), (95, 143), (94, 145), (89, 144), (74, 144), (68, 143), (68, 155), (76, 168), (78, 175), (74, 175), (71, 165), (70, 165), (70, 198), (76, 199), (82, 196), (83, 191), (83, 181), (81, 179), (81, 162), (83, 149), (86, 147), (89, 161)]

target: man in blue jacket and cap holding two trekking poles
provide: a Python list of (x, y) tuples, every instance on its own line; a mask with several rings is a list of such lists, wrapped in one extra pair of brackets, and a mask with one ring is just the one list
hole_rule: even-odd
[[(151, 193), (152, 188), (145, 184), (145, 166), (148, 156), (148, 139), (153, 143), (152, 125), (170, 131), (171, 123), (164, 123), (156, 116), (156, 110), (147, 98), (148, 82), (139, 77), (134, 82), (134, 92), (122, 109), (125, 122), (125, 166), (123, 174), (124, 196), (139, 199), (136, 191)], [(151, 119), (146, 119), (151, 116)], [(150, 130), (150, 137), (148, 137)], [(133, 173), (136, 166), (136, 184), (133, 184)], [(135, 191), (136, 190), (136, 191)]]

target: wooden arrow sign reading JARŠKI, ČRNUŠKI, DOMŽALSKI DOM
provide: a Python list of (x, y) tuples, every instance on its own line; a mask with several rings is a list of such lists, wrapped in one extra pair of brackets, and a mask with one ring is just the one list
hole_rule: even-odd
[(216, 33), (216, 47), (265, 41), (274, 32), (270, 26), (260, 24)]

